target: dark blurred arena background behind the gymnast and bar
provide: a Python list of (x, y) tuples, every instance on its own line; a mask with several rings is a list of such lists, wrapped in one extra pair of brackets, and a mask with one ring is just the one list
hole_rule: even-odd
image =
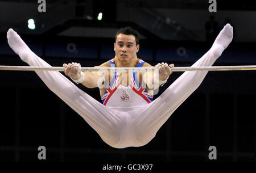
[[(141, 34), (138, 58), (191, 66), (211, 47), (209, 34), (226, 23), (234, 39), (214, 65), (256, 65), (255, 1), (217, 1), (217, 12), (203, 0), (46, 3), (39, 12), (38, 1), (0, 1), (0, 65), (27, 65), (7, 43), (9, 28), (52, 66), (91, 67), (114, 57), (115, 32), (131, 26)], [(155, 98), (181, 74), (173, 73)], [(77, 86), (101, 102), (98, 88)], [(151, 142), (126, 149), (105, 144), (34, 71), (0, 71), (0, 94), (0, 161), (39, 161), (39, 146), (46, 146), (46, 161), (210, 161), (209, 146), (217, 148), (216, 161), (256, 161), (255, 71), (209, 71)]]

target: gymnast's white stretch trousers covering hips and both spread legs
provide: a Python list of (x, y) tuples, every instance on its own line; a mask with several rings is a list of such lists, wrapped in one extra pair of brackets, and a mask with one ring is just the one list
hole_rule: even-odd
[[(221, 47), (219, 49), (223, 50)], [(192, 66), (212, 66), (220, 56), (220, 54), (213, 52), (210, 49)], [(28, 64), (30, 66), (50, 66), (34, 53)], [(117, 111), (104, 106), (80, 90), (59, 71), (35, 72), (51, 91), (96, 130), (106, 144), (115, 148), (143, 146), (150, 142), (159, 128), (180, 104), (199, 87), (208, 73), (208, 71), (186, 71), (162, 95), (152, 103), (147, 104), (146, 107)]]

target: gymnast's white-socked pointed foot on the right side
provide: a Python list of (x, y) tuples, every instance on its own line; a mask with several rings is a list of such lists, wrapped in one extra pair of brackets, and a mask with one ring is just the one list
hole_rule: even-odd
[(230, 24), (226, 24), (224, 28), (220, 31), (217, 38), (213, 43), (213, 55), (221, 56), (221, 53), (228, 47), (233, 39), (233, 27)]

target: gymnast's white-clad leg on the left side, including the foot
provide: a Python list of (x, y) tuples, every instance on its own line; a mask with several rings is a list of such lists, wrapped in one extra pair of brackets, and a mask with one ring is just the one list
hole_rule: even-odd
[[(7, 39), (10, 47), (22, 61), (30, 66), (50, 67), (42, 58), (27, 47), (20, 36), (9, 29)], [(80, 90), (59, 71), (35, 71), (46, 86), (75, 110), (110, 146), (119, 140), (118, 128), (122, 126), (122, 115), (93, 99)]]

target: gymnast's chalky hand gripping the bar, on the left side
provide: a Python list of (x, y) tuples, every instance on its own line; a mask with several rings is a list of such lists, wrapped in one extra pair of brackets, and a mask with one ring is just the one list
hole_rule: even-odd
[(81, 78), (81, 65), (79, 63), (74, 63), (72, 64), (63, 64), (63, 67), (65, 67), (64, 73), (71, 79), (79, 79)]

